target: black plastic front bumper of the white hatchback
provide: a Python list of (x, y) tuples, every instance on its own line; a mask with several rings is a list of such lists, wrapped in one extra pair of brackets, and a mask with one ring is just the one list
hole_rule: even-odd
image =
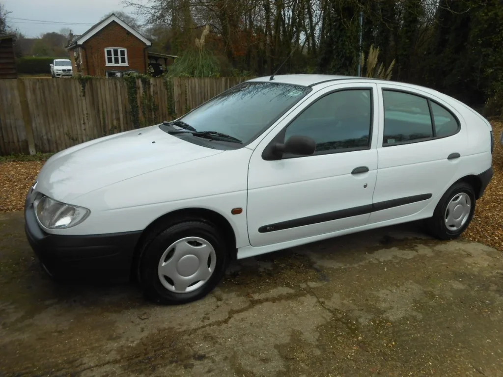
[(55, 278), (127, 280), (141, 231), (63, 236), (43, 231), (33, 206), (25, 209), (25, 233), (46, 271)]

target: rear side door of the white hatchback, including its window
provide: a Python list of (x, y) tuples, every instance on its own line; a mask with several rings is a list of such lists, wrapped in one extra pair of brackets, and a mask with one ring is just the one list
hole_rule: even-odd
[(462, 117), (420, 89), (379, 84), (383, 111), (369, 224), (414, 215), (444, 194), (467, 148)]

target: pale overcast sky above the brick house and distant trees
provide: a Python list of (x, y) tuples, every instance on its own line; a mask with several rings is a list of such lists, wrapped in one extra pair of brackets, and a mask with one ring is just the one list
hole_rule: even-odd
[[(82, 34), (107, 13), (123, 11), (131, 14), (132, 12), (131, 9), (124, 8), (121, 0), (0, 0), (0, 3), (4, 4), (7, 11), (12, 12), (8, 17), (9, 25), (19, 29), (27, 38), (35, 38), (42, 33), (57, 32), (65, 27), (70, 28), (73, 34)], [(69, 24), (48, 24), (19, 19)]]

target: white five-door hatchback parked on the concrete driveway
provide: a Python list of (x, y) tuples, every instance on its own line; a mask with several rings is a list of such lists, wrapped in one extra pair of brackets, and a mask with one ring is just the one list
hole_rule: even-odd
[(425, 87), (255, 78), (177, 121), (52, 156), (26, 233), (54, 277), (133, 275), (151, 300), (184, 303), (231, 259), (420, 219), (458, 237), (492, 145), (489, 122)]

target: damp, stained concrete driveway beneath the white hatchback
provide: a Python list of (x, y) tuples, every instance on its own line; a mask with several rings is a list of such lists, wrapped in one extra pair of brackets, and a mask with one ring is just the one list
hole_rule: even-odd
[(0, 375), (503, 375), (503, 261), (417, 224), (233, 263), (204, 300), (56, 285), (0, 215)]

